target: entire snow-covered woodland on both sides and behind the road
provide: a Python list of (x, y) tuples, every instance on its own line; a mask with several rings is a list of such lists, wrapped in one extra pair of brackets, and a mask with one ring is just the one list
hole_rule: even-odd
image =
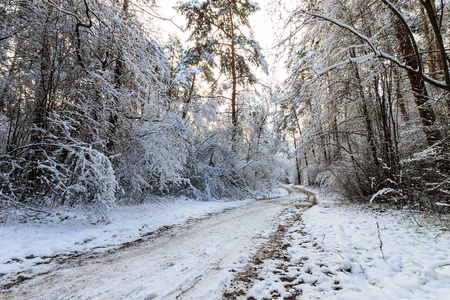
[(449, 3), (297, 2), (267, 86), (249, 0), (180, 1), (188, 41), (151, 0), (1, 0), (0, 210), (284, 182), (448, 212)]

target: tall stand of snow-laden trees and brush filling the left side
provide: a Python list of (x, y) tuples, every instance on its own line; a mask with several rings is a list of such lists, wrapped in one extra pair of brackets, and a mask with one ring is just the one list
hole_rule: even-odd
[(110, 158), (145, 103), (162, 109), (164, 53), (115, 1), (9, 2), (2, 14), (2, 36), (17, 29), (0, 43), (3, 203), (107, 209)]

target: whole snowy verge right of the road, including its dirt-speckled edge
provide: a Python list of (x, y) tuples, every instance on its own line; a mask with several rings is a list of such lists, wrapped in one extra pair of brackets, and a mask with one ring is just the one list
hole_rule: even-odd
[(448, 232), (324, 202), (294, 220), (243, 299), (449, 299)]

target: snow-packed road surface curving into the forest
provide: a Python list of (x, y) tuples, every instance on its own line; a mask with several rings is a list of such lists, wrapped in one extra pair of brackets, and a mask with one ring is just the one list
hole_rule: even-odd
[[(8, 299), (220, 299), (296, 193), (175, 226), (159, 237), (69, 261), (13, 287)], [(0, 297), (1, 298), (1, 297)]]

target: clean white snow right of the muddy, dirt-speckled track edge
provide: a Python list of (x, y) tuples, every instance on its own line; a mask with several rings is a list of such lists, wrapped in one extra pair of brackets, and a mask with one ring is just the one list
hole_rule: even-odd
[[(450, 234), (420, 228), (400, 212), (316, 206), (305, 212), (304, 229), (321, 251), (309, 251), (317, 286), (303, 297), (334, 299), (446, 299), (450, 291)], [(377, 226), (378, 224), (378, 226)], [(382, 242), (382, 244), (381, 244)], [(380, 246), (381, 249), (380, 249)], [(304, 250), (297, 249), (297, 251)], [(295, 249), (293, 250), (295, 251)], [(323, 278), (336, 274), (338, 288)]]

